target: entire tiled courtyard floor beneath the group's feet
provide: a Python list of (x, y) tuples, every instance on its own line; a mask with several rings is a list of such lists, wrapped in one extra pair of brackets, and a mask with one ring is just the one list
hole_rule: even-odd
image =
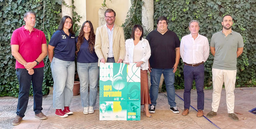
[[(17, 99), (3, 99), (0, 97), (0, 129), (84, 129), (84, 128), (146, 128), (146, 129), (214, 129), (216, 124), (222, 129), (256, 129), (256, 115), (248, 112), (256, 106), (256, 88), (239, 88), (235, 90), (235, 112), (239, 122), (232, 121), (227, 114), (225, 90), (222, 91), (221, 103), (217, 116), (210, 118), (210, 123), (205, 117), (196, 117), (196, 111), (190, 108), (187, 116), (182, 116), (183, 111), (183, 90), (176, 90), (175, 102), (180, 110), (179, 114), (174, 114), (169, 110), (166, 92), (159, 93), (157, 99), (156, 113), (152, 113), (153, 118), (146, 117), (141, 112), (141, 121), (99, 121), (99, 98), (97, 98), (95, 113), (83, 114), (80, 95), (73, 96), (71, 111), (74, 112), (66, 118), (54, 115), (55, 109), (52, 105), (52, 95), (43, 98), (42, 112), (47, 115), (46, 120), (39, 120), (34, 117), (33, 99), (29, 99), (29, 104), (23, 121), (17, 125), (11, 125), (11, 119), (15, 116), (15, 106)], [(204, 91), (204, 115), (211, 110), (212, 90)], [(181, 97), (181, 98), (179, 98)], [(197, 94), (191, 91), (191, 106), (197, 109)], [(7, 108), (7, 109), (6, 109)], [(8, 117), (6, 117), (6, 115)]]

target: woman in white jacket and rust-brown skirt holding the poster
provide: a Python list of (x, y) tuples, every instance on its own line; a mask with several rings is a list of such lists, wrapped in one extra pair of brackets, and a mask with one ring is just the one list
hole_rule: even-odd
[(131, 38), (125, 41), (125, 58), (124, 62), (137, 63), (140, 67), (141, 74), (141, 105), (144, 105), (143, 111), (147, 117), (152, 117), (148, 111), (148, 104), (151, 104), (148, 93), (148, 59), (151, 56), (150, 45), (143, 37), (143, 28), (141, 25), (134, 25), (132, 28)]

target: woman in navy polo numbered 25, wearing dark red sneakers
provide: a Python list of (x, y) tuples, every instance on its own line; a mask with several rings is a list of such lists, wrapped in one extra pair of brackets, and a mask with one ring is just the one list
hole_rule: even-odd
[[(53, 54), (54, 52), (54, 54)], [(75, 74), (75, 35), (72, 19), (64, 16), (48, 45), (48, 57), (53, 74), (53, 107), (55, 115), (67, 117), (73, 96)], [(62, 111), (62, 109), (64, 110)]]

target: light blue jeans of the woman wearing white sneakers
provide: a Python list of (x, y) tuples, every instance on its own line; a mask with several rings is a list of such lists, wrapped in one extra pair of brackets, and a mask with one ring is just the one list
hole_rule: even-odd
[[(77, 62), (77, 73), (80, 79), (80, 94), (83, 107), (94, 107), (96, 104), (99, 72), (98, 62)], [(90, 86), (90, 95), (88, 94), (88, 84)]]

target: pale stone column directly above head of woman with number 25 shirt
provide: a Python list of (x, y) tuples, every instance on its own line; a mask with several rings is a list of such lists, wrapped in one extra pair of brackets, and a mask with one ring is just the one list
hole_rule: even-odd
[[(65, 5), (64, 5), (64, 4)], [(63, 16), (70, 16), (71, 18), (73, 17), (73, 13), (72, 13), (72, 7), (70, 7), (72, 4), (72, 0), (62, 0), (62, 4), (61, 4), (61, 17)]]

